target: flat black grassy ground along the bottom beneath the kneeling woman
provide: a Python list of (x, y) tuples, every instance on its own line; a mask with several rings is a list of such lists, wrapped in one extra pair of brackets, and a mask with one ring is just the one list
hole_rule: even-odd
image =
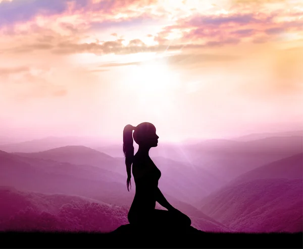
[(109, 233), (2, 232), (2, 248), (302, 248), (303, 233), (211, 233), (193, 227), (135, 228)]

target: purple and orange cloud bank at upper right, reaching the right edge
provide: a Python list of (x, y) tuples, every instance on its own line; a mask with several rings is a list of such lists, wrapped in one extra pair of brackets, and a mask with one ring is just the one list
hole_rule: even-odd
[(209, 45), (224, 44), (223, 40), (231, 38), (239, 42), (243, 38), (258, 42), (260, 36), (263, 35), (263, 39), (266, 37), (264, 33), (267, 34), (267, 41), (270, 41), (282, 32), (300, 31), (303, 27), (303, 8), (248, 11), (243, 14), (238, 7), (224, 14), (196, 13), (164, 27), (155, 40), (164, 44), (169, 36), (179, 32), (182, 42), (195, 41)]

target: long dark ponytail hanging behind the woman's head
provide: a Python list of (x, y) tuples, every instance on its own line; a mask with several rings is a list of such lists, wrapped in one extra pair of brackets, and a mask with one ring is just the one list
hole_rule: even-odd
[[(133, 145), (134, 140), (132, 136), (133, 130), (134, 127), (131, 125), (125, 126), (123, 130), (123, 153), (125, 156), (127, 182), (129, 183), (131, 178), (131, 164), (133, 163), (133, 157), (134, 157), (134, 145)], [(129, 183), (127, 183), (127, 189)]]

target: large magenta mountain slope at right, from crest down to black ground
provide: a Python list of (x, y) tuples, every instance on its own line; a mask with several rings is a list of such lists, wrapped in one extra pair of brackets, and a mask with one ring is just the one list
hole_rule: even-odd
[(303, 227), (303, 153), (241, 174), (195, 204), (230, 229), (297, 232)]

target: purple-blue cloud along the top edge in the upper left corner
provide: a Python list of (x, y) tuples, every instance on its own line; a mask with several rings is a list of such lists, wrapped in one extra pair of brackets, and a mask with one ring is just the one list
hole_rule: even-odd
[[(155, 0), (23, 0), (0, 2), (0, 24), (13, 25), (28, 22), (37, 16), (52, 17), (64, 14), (99, 13), (113, 15), (129, 8), (145, 8), (157, 3)], [(136, 7), (136, 8), (135, 8)]]

